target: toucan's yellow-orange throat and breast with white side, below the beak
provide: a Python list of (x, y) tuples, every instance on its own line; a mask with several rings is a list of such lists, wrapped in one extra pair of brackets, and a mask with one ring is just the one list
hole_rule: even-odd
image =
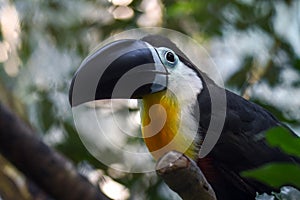
[(197, 128), (193, 127), (197, 127), (197, 122), (190, 120), (193, 116), (189, 105), (185, 104), (168, 90), (143, 97), (142, 133), (155, 159), (171, 150), (183, 152), (192, 158), (196, 156), (193, 136), (197, 135)]

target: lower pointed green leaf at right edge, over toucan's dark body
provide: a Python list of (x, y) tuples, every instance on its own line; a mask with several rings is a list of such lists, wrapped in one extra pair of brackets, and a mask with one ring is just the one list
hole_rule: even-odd
[(270, 163), (258, 169), (244, 171), (241, 175), (275, 188), (283, 185), (300, 187), (300, 165), (291, 163)]

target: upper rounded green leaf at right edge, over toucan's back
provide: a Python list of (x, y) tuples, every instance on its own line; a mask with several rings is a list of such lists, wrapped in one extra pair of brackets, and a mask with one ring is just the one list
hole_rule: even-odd
[(272, 147), (279, 147), (285, 153), (300, 157), (300, 137), (294, 136), (284, 127), (275, 127), (266, 134), (266, 140)]

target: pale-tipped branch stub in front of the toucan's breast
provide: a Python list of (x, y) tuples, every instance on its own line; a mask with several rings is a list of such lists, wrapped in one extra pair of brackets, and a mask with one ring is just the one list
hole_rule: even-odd
[(217, 199), (197, 164), (182, 153), (165, 154), (158, 160), (156, 172), (184, 200)]

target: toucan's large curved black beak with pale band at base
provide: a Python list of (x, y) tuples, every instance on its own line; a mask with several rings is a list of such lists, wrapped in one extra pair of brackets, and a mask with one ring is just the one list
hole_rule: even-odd
[(168, 71), (154, 47), (119, 40), (87, 57), (73, 77), (71, 106), (99, 99), (142, 98), (167, 88)]

